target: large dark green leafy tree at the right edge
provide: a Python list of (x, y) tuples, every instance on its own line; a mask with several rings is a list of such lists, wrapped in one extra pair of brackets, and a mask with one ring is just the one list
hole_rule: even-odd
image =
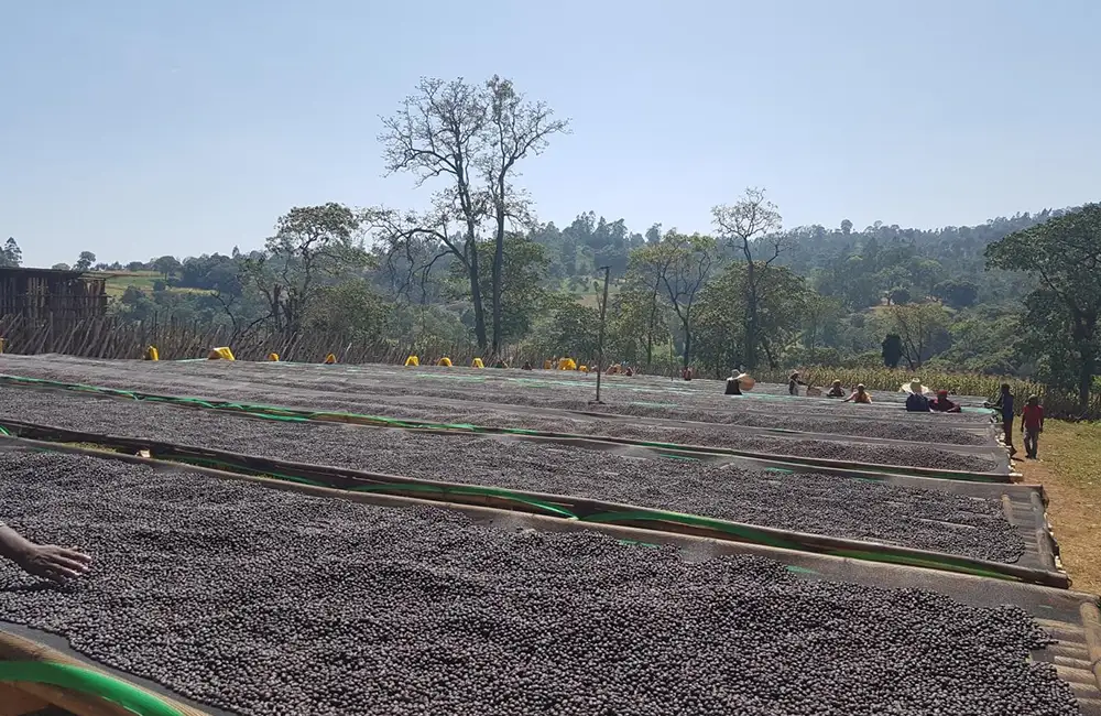
[(1037, 281), (1025, 302), (1026, 327), (1048, 339), (1043, 345), (1049, 361), (1061, 364), (1064, 372), (1077, 373), (1079, 406), (1084, 411), (1098, 370), (1101, 204), (1087, 204), (1011, 234), (986, 247), (985, 256), (990, 268), (1025, 272)]

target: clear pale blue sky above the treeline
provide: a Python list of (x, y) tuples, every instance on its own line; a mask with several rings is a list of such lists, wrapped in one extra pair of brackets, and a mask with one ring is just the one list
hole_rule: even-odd
[(511, 77), (573, 120), (538, 216), (975, 224), (1101, 198), (1095, 0), (8, 0), (0, 239), (26, 264), (259, 246), (292, 206), (417, 207), (379, 115)]

